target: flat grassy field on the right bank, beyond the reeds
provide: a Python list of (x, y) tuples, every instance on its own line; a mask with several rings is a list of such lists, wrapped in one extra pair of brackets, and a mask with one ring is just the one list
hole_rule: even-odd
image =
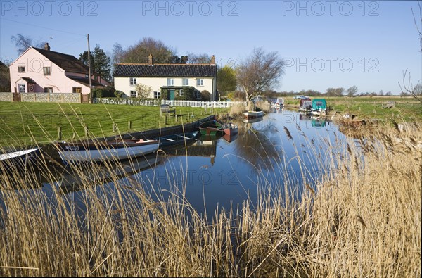
[[(315, 99), (312, 97), (311, 99)], [(395, 120), (396, 122), (422, 122), (422, 105), (413, 97), (373, 96), (373, 97), (324, 97), (331, 113), (349, 113), (364, 120)], [(285, 98), (287, 107), (298, 108), (299, 99)], [(383, 108), (386, 101), (395, 101), (395, 107)]]

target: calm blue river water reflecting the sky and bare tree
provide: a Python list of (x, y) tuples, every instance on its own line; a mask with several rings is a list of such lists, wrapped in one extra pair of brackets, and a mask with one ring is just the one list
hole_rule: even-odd
[[(113, 181), (101, 186), (92, 182), (92, 187), (98, 187), (99, 193), (117, 187), (124, 190), (125, 185), (140, 186), (151, 196), (165, 199), (170, 194), (184, 194), (200, 213), (205, 208), (212, 212), (216, 206), (236, 208), (247, 198), (256, 201), (257, 189), (283, 187), (285, 182), (297, 190), (300, 198), (303, 182), (312, 186), (331, 154), (345, 144), (345, 136), (333, 122), (290, 110), (274, 110), (257, 122), (234, 122), (239, 127), (237, 137), (200, 137), (187, 149), (127, 164), (117, 171), (121, 179), (114, 175)], [(82, 203), (84, 189), (75, 185), (81, 177), (80, 173), (67, 175), (31, 190), (53, 196), (54, 188), (62, 187), (64, 198)]]

